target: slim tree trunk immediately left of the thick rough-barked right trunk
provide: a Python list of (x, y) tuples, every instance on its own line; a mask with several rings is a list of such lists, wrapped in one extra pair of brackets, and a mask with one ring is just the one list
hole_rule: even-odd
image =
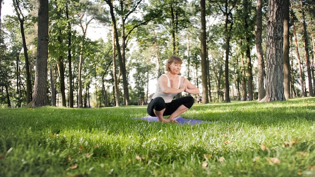
[(266, 96), (265, 90), (265, 62), (262, 47), (262, 0), (257, 0), (257, 19), (256, 19), (256, 50), (258, 60), (258, 101)]

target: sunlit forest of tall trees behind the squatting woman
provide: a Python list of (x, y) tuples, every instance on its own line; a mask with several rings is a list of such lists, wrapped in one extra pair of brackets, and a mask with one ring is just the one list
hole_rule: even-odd
[(146, 104), (171, 55), (203, 104), (314, 96), (312, 0), (0, 0), (9, 3), (2, 107)]

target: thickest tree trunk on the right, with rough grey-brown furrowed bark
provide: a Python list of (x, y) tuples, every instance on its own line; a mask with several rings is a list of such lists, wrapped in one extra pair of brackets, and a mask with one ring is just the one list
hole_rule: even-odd
[(269, 0), (266, 22), (267, 85), (266, 97), (261, 102), (284, 101), (282, 0)]

